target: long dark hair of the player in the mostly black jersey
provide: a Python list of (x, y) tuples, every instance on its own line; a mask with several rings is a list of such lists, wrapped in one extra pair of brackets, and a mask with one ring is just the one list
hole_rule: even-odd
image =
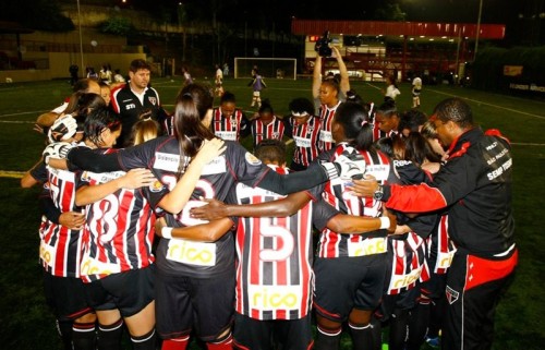
[(179, 176), (189, 166), (186, 157), (194, 157), (204, 140), (215, 137), (214, 133), (203, 124), (203, 119), (213, 107), (214, 97), (210, 90), (199, 84), (189, 84), (175, 98), (174, 130), (180, 145)]

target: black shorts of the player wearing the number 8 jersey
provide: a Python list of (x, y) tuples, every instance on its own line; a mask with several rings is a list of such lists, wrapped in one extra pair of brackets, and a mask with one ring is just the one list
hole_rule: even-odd
[(155, 299), (155, 265), (113, 274), (85, 285), (89, 304), (98, 311), (118, 309), (130, 317)]

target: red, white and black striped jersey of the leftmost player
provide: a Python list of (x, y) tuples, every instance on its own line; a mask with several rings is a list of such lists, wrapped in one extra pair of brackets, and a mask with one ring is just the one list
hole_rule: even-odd
[[(76, 173), (47, 167), (45, 189), (61, 213), (82, 212), (75, 205)], [(41, 218), (39, 227), (39, 260), (44, 268), (58, 277), (80, 277), (82, 258), (82, 231), (71, 230), (60, 224)]]

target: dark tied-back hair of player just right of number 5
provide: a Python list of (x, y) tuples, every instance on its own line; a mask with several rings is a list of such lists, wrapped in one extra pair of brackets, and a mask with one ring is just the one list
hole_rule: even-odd
[(335, 122), (342, 125), (346, 141), (358, 150), (375, 152), (371, 147), (373, 130), (368, 121), (368, 112), (356, 102), (342, 102), (335, 112)]

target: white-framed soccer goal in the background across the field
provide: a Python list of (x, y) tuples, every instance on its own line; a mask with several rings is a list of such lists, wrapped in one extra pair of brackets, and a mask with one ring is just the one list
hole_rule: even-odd
[(252, 77), (254, 67), (263, 77), (295, 80), (298, 76), (296, 59), (235, 57), (234, 77)]

